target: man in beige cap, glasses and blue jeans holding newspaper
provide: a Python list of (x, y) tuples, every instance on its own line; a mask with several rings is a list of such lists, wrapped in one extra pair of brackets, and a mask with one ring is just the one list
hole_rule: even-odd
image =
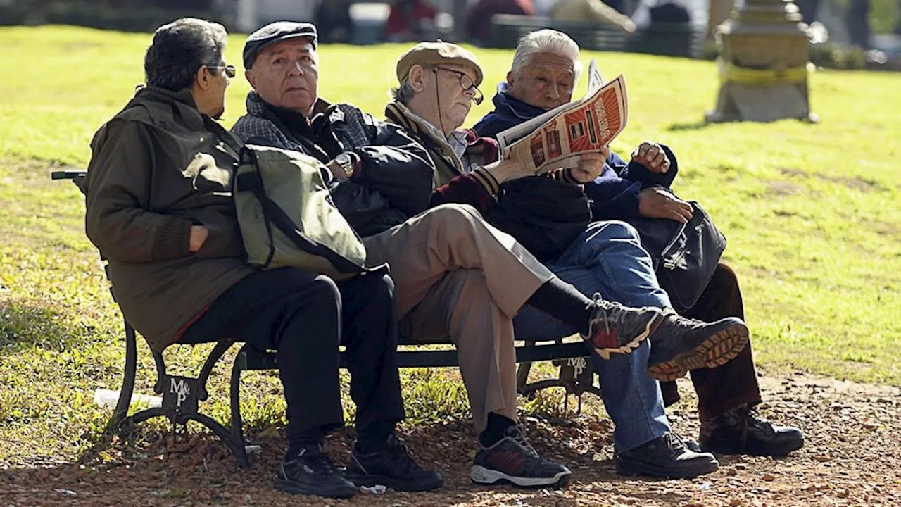
[[(386, 108), (387, 119), (404, 126), (408, 134), (429, 150), (437, 170), (438, 187), (432, 204), (470, 204), (494, 225), (496, 194), (509, 196), (510, 192), (522, 192), (520, 188), (525, 188), (532, 193), (529, 202), (535, 203), (532, 205), (535, 216), (551, 216), (548, 207), (560, 203), (551, 201), (547, 192), (558, 188), (560, 182), (532, 178), (528, 187), (510, 188), (505, 179), (532, 175), (494, 173), (491, 176), (495, 179), (490, 178), (485, 168), (491, 167), (498, 157), (496, 141), (460, 129), (471, 104), (478, 104), (482, 97), (477, 88), (482, 69), (471, 52), (447, 42), (421, 42), (398, 60), (397, 80), (395, 100)], [(598, 172), (593, 166), (603, 167), (606, 154), (584, 155), (575, 169), (559, 170), (559, 180), (577, 184), (593, 180)], [(496, 226), (501, 230), (507, 228), (506, 223), (496, 223)], [(517, 231), (509, 232), (517, 235)], [(728, 344), (734, 339), (734, 350), (719, 355), (717, 360), (724, 361), (737, 354), (747, 338), (747, 327), (738, 319), (705, 324), (678, 317), (670, 307), (666, 292), (660, 289), (648, 253), (632, 233), (631, 226), (622, 222), (589, 224), (569, 247), (548, 260), (547, 267), (587, 295), (599, 293), (605, 299), (623, 304), (663, 309), (674, 336), (713, 329), (710, 343), (722, 339), (717, 343)], [(534, 309), (524, 309), (514, 318), (514, 332), (520, 339), (539, 340), (569, 336), (578, 333), (578, 329)], [(616, 427), (617, 470), (625, 475), (667, 477), (712, 472), (717, 467), (714, 456), (690, 450), (669, 427), (660, 384), (651, 378), (648, 369), (649, 358), (654, 364), (654, 351), (659, 347), (658, 343), (645, 342), (631, 355), (618, 355), (610, 360), (598, 355), (592, 357), (601, 379), (605, 407)], [(684, 368), (678, 371), (685, 373)], [(660, 375), (655, 368), (651, 368), (651, 373), (660, 378), (676, 374)]]

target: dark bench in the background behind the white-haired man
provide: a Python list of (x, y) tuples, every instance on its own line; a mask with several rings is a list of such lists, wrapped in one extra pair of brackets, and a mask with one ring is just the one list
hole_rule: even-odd
[(526, 33), (552, 28), (564, 32), (578, 47), (588, 51), (628, 51), (666, 56), (699, 58), (705, 32), (683, 23), (652, 23), (629, 35), (612, 26), (595, 22), (554, 21), (544, 16), (495, 14), (491, 16), (493, 48), (515, 48)]

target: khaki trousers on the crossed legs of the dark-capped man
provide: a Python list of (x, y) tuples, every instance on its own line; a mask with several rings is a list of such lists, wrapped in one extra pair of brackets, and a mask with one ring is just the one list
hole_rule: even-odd
[(474, 207), (434, 207), (364, 240), (388, 263), (406, 336), (451, 336), (478, 431), (489, 412), (516, 419), (513, 317), (554, 274)]

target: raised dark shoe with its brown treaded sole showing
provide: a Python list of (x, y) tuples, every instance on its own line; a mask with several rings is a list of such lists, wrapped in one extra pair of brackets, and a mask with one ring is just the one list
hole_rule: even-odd
[(707, 323), (670, 311), (648, 338), (651, 341), (648, 373), (660, 382), (669, 382), (690, 370), (722, 366), (742, 352), (749, 337), (748, 327), (741, 318), (727, 317)]

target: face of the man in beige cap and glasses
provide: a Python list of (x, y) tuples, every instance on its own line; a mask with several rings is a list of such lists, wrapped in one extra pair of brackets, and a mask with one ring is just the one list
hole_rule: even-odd
[[(476, 95), (474, 85), (476, 76), (476, 69), (468, 65), (443, 64), (426, 69), (423, 80), (426, 83), (433, 81), (435, 84), (432, 86), (427, 84), (423, 93), (428, 98), (427, 94), (430, 92), (434, 94), (434, 87), (437, 86), (439, 104), (436, 106), (441, 106), (439, 114), (444, 126), (455, 129), (466, 121), (466, 115), (469, 115), (469, 109), (472, 107), (472, 97)], [(463, 84), (473, 85), (463, 88)]]

